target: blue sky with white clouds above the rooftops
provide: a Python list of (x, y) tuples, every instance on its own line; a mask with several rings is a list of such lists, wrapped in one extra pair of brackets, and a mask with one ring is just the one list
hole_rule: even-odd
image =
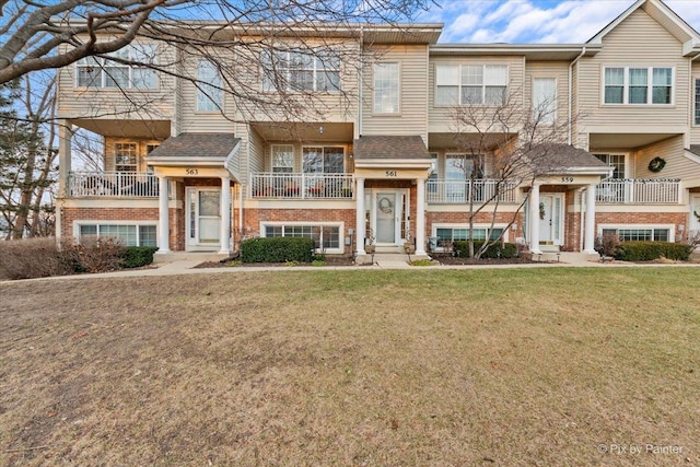
[[(634, 0), (436, 0), (417, 21), (444, 23), (441, 43), (580, 44)], [(666, 4), (700, 31), (700, 0)]]

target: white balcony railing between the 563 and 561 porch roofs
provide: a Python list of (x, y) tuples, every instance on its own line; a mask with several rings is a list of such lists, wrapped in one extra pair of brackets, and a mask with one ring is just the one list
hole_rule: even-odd
[(252, 198), (351, 199), (352, 174), (250, 174)]

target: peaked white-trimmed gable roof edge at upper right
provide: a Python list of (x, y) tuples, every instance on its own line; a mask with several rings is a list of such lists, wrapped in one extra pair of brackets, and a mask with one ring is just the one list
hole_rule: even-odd
[(634, 12), (643, 10), (649, 16), (656, 21), (662, 27), (668, 31), (684, 45), (684, 56), (695, 57), (700, 54), (700, 34), (686, 23), (678, 14), (668, 8), (661, 0), (638, 0), (622, 14), (616, 17), (598, 34), (593, 36), (587, 44), (600, 45), (603, 38), (617, 28), (625, 20)]

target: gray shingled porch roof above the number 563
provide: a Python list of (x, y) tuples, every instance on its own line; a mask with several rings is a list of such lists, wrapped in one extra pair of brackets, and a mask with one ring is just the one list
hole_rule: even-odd
[(233, 133), (182, 133), (163, 141), (149, 157), (226, 157), (238, 141)]

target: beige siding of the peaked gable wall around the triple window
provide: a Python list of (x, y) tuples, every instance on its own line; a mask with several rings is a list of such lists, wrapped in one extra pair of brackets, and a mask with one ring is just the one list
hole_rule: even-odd
[[(680, 132), (688, 122), (688, 62), (682, 45), (643, 10), (603, 39), (597, 56), (582, 58), (578, 97), (586, 132)], [(673, 105), (603, 105), (604, 67), (673, 67)], [(650, 78), (651, 79), (651, 78)]]

